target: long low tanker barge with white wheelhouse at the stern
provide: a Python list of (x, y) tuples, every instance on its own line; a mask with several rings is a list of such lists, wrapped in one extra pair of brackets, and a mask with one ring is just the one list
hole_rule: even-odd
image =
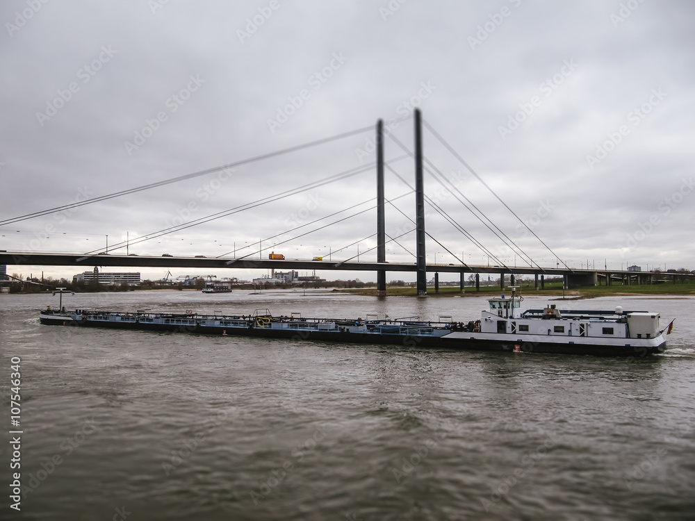
[(186, 313), (119, 313), (114, 311), (42, 311), (42, 324), (106, 327), (250, 336), (285, 340), (318, 340), (345, 344), (385, 344), (518, 353), (647, 356), (666, 349), (659, 313), (644, 311), (562, 311), (554, 305), (520, 310), (521, 297), (489, 299), (480, 320), (455, 322), (452, 317), (420, 321), (400, 319), (329, 319), (273, 316), (267, 309), (250, 315)]

